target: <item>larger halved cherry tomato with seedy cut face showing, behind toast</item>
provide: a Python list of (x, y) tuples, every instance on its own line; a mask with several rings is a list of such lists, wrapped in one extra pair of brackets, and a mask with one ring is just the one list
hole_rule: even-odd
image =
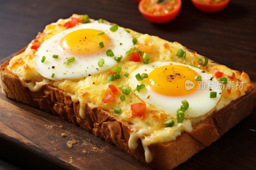
[(154, 23), (166, 23), (180, 12), (181, 0), (141, 0), (139, 11), (144, 18)]

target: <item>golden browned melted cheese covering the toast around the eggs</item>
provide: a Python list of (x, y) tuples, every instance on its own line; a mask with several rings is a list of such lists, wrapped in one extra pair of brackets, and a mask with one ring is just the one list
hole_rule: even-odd
[[(79, 15), (73, 15), (73, 17), (79, 18)], [(44, 40), (49, 39), (51, 36), (56, 33), (64, 30), (64, 24), (69, 19), (59, 19), (56, 23), (52, 23), (44, 29), (43, 33), (38, 33), (36, 40), (43, 42)], [(106, 23), (106, 21), (105, 21)], [(123, 29), (120, 27), (120, 29)], [(132, 37), (136, 37), (138, 42), (135, 47), (139, 48), (141, 51), (147, 52), (150, 54), (150, 62), (153, 61), (172, 61), (185, 64), (194, 64), (200, 66), (203, 71), (212, 74), (214, 68), (218, 68), (223, 75), (228, 77), (229, 80), (239, 80), (244, 81), (244, 86), (242, 89), (238, 90), (223, 90), (222, 98), (218, 103), (214, 111), (226, 106), (230, 101), (239, 98), (244, 95), (247, 90), (247, 84), (250, 82), (250, 79), (246, 73), (241, 73), (236, 70), (227, 68), (224, 65), (217, 64), (209, 60), (207, 66), (203, 67), (199, 65), (197, 59), (201, 57), (194, 52), (188, 51), (188, 49), (182, 46), (178, 42), (168, 42), (156, 36), (150, 36), (148, 34), (140, 34), (130, 30)], [(209, 116), (211, 113), (199, 117), (196, 119), (186, 119), (182, 123), (178, 123), (176, 119), (170, 117), (164, 112), (157, 110), (151, 105), (147, 104), (147, 113), (144, 115), (144, 118), (141, 119), (132, 115), (131, 104), (142, 102), (133, 92), (129, 95), (126, 95), (126, 100), (121, 101), (120, 96), (122, 95), (120, 89), (116, 94), (116, 100), (105, 104), (102, 99), (108, 94), (108, 84), (106, 84), (108, 73), (112, 71), (112, 68), (106, 72), (102, 72), (98, 75), (88, 76), (81, 80), (71, 81), (53, 81), (42, 77), (36, 70), (34, 66), (34, 55), (36, 50), (31, 49), (32, 43), (28, 45), (28, 48), (20, 55), (17, 55), (12, 58), (8, 65), (8, 70), (12, 74), (18, 76), (24, 87), (28, 87), (31, 91), (35, 92), (40, 89), (44, 84), (49, 84), (54, 87), (57, 87), (71, 96), (73, 102), (80, 103), (80, 116), (82, 119), (86, 118), (86, 106), (91, 109), (94, 107), (100, 107), (103, 110), (108, 110), (113, 116), (131, 123), (133, 130), (130, 132), (129, 138), (129, 148), (136, 149), (138, 146), (138, 141), (142, 142), (143, 148), (145, 150), (146, 161), (150, 162), (153, 158), (150, 154), (148, 146), (150, 144), (169, 142), (175, 140), (183, 131), (189, 132), (192, 130), (192, 124), (203, 120), (205, 117)], [(187, 52), (186, 60), (181, 57), (177, 57), (176, 53), (178, 49), (182, 48)], [(141, 62), (132, 62), (129, 61), (129, 57), (126, 60), (118, 63), (122, 67), (120, 75), (124, 75), (125, 72), (131, 73), (133, 70), (138, 68), (143, 64)], [(114, 85), (123, 85), (124, 87), (129, 87), (128, 78), (122, 77), (113, 82)], [(226, 86), (225, 86), (226, 87)], [(121, 114), (114, 113), (114, 107), (120, 107), (122, 109)], [(172, 127), (165, 127), (164, 122), (168, 119), (173, 119), (175, 124)], [(115, 140), (115, 135), (110, 126), (108, 126), (111, 134), (111, 138)]]

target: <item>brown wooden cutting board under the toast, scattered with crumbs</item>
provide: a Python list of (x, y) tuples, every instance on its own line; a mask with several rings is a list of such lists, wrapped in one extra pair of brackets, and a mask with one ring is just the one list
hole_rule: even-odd
[[(152, 169), (59, 116), (3, 93), (0, 103), (1, 159), (29, 169)], [(256, 169), (256, 132), (249, 131), (255, 122), (256, 109), (175, 169)]]

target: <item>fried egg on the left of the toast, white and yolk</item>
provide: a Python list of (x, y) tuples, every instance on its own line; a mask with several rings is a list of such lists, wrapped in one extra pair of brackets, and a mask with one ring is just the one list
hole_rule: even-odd
[[(117, 63), (114, 56), (125, 57), (133, 42), (132, 36), (124, 29), (112, 32), (110, 27), (97, 21), (80, 24), (45, 40), (35, 54), (36, 70), (48, 79), (74, 80), (114, 67)], [(103, 43), (104, 47), (100, 47), (99, 43)], [(108, 49), (114, 56), (106, 55)], [(100, 59), (104, 60), (102, 67), (98, 66)]]

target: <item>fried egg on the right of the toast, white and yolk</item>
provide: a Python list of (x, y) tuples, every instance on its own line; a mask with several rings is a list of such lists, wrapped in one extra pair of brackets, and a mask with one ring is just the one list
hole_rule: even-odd
[[(147, 73), (148, 78), (138, 81), (135, 75)], [(201, 76), (201, 81), (194, 78)], [(139, 66), (132, 71), (130, 88), (145, 84), (146, 88), (135, 91), (135, 94), (145, 103), (176, 117), (181, 101), (187, 100), (187, 118), (203, 116), (217, 106), (221, 98), (220, 83), (211, 74), (201, 69), (174, 62), (152, 62)], [(216, 98), (210, 98), (210, 92), (217, 92)]]

